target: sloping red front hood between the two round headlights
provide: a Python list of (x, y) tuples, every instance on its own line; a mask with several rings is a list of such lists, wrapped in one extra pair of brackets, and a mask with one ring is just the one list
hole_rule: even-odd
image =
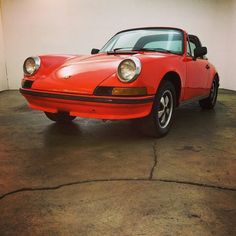
[[(96, 54), (73, 57), (66, 60), (49, 75), (36, 80), (32, 88), (92, 95), (97, 86), (117, 72), (119, 63), (124, 58), (131, 56), (139, 57), (141, 61), (147, 60), (147, 58), (152, 59), (151, 55), (144, 54)], [(165, 56), (165, 54), (156, 54), (153, 58)]]

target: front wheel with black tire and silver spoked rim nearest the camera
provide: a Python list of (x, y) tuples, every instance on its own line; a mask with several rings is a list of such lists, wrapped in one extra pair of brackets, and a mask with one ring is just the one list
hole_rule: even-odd
[(165, 136), (173, 123), (175, 108), (175, 87), (164, 80), (158, 88), (150, 115), (144, 118), (142, 129), (145, 134), (155, 138)]

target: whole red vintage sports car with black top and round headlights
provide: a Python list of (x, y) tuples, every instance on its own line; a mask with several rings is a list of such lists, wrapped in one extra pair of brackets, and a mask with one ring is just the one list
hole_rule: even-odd
[(181, 103), (215, 106), (219, 75), (206, 54), (199, 38), (182, 29), (128, 29), (88, 56), (27, 58), (20, 92), (31, 108), (56, 122), (76, 116), (142, 118), (144, 127), (160, 137), (169, 131)]

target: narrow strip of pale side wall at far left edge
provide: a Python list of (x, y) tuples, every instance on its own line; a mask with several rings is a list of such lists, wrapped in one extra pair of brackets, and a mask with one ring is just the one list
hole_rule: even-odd
[(0, 4), (0, 91), (7, 89), (6, 62), (4, 55), (4, 41), (2, 28), (2, 14)]

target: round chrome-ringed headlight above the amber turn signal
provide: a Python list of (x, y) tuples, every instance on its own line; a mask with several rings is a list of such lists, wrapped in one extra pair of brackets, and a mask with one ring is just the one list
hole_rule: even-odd
[(118, 66), (118, 78), (121, 82), (134, 81), (141, 72), (141, 62), (137, 57), (123, 60)]

